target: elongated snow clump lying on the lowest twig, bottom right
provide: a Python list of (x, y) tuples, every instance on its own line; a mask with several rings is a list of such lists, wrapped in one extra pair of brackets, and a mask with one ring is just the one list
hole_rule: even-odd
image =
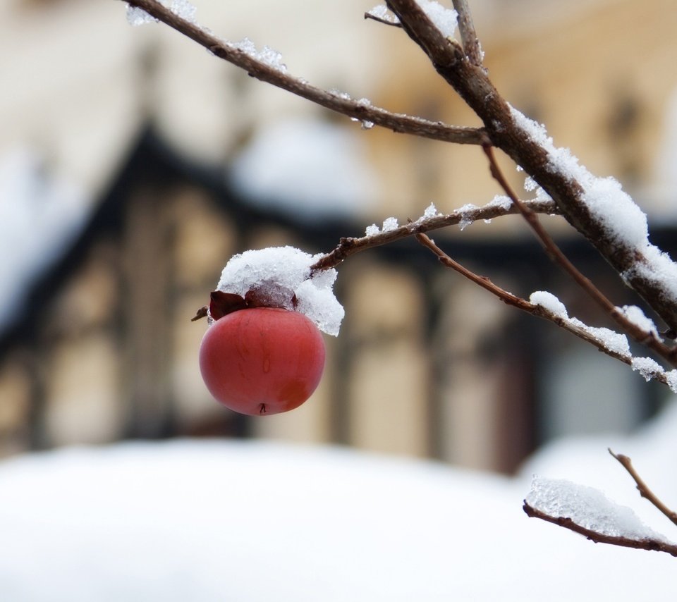
[(526, 502), (544, 514), (569, 518), (584, 529), (607, 536), (668, 541), (647, 527), (631, 508), (609, 500), (598, 489), (565, 479), (544, 479), (534, 475)]

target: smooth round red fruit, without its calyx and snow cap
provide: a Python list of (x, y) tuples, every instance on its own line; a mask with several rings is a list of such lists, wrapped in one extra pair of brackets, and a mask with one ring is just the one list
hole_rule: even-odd
[(240, 309), (207, 328), (200, 371), (209, 393), (242, 414), (279, 414), (315, 391), (324, 340), (305, 315), (276, 307)]

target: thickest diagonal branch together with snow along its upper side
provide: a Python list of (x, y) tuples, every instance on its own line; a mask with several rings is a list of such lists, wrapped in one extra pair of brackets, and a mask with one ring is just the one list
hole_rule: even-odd
[[(619, 205), (641, 213), (630, 197), (617, 183), (594, 178), (565, 149), (556, 149), (544, 128), (513, 109), (484, 69), (466, 58), (461, 44), (446, 37), (416, 0), (387, 0), (386, 4), (439, 75), (482, 119), (492, 145), (511, 156), (554, 199), (567, 221), (677, 332), (676, 264), (649, 244), (648, 233), (630, 240), (619, 236), (614, 227)], [(602, 203), (597, 203), (599, 192), (604, 192)]]

